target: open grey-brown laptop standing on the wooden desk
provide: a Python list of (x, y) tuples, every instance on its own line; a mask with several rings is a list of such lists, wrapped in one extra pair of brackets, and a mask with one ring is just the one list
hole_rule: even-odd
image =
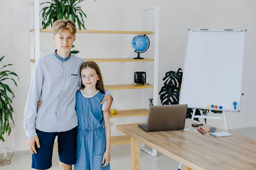
[(146, 132), (183, 130), (188, 105), (149, 106), (148, 124), (138, 125)]

